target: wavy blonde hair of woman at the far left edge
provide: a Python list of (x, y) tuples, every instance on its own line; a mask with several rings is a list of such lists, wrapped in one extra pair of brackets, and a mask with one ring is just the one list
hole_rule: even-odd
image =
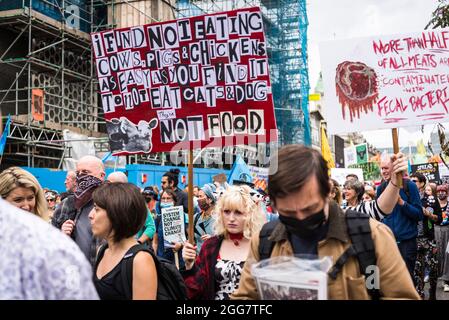
[(0, 173), (0, 197), (7, 198), (16, 188), (31, 189), (36, 198), (34, 214), (47, 220), (47, 201), (45, 200), (44, 190), (37, 179), (28, 171), (19, 167), (11, 167)]

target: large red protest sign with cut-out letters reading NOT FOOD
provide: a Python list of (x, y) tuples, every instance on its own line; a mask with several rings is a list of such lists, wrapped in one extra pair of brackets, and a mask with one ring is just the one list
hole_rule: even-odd
[(259, 8), (91, 37), (114, 154), (277, 140)]

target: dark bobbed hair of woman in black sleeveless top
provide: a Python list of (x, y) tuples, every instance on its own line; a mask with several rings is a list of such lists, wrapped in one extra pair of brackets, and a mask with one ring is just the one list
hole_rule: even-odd
[(135, 185), (106, 183), (94, 191), (92, 198), (97, 206), (106, 210), (115, 242), (134, 236), (144, 226), (147, 205)]

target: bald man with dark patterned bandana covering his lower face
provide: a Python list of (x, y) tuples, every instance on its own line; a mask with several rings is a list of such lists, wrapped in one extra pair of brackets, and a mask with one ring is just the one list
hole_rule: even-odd
[(75, 240), (92, 266), (95, 264), (100, 241), (92, 234), (89, 212), (94, 206), (92, 194), (104, 182), (105, 175), (103, 162), (97, 157), (84, 156), (78, 161), (76, 188), (71, 208), (75, 216), (68, 217), (61, 226), (61, 230)]

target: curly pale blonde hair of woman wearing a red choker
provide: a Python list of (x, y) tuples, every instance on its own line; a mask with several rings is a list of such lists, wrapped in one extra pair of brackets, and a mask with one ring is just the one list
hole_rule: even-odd
[(245, 225), (243, 227), (243, 236), (247, 239), (260, 231), (265, 223), (264, 213), (250, 195), (251, 188), (248, 186), (232, 186), (220, 197), (215, 207), (215, 234), (227, 236), (223, 212), (225, 210), (238, 210), (245, 214)]

